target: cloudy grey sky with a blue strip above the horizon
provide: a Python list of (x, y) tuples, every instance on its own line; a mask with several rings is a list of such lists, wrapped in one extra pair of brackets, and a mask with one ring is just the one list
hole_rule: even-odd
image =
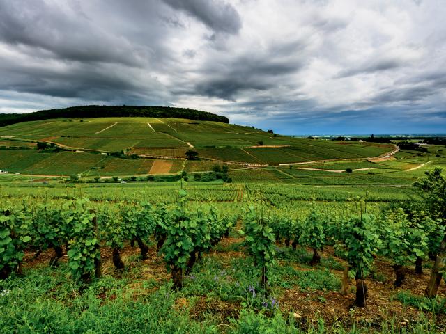
[(0, 0), (0, 113), (180, 106), (281, 134), (446, 132), (444, 0)]

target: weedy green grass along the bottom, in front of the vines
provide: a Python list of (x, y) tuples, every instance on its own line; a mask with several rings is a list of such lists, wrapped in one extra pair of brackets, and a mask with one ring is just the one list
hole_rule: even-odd
[[(153, 272), (150, 264), (145, 270), (148, 265), (133, 255), (124, 258), (129, 269), (119, 274), (105, 262), (105, 275), (81, 292), (65, 263), (57, 269), (25, 267), (24, 276), (0, 281), (2, 333), (399, 333), (401, 328), (403, 333), (436, 333), (436, 324), (423, 315), (405, 327), (392, 316), (377, 324), (357, 320), (353, 313), (334, 321), (321, 315), (295, 317), (297, 311), (278, 302), (288, 291), (302, 292), (306, 303), (322, 309), (330, 292), (339, 289), (339, 277), (323, 267), (277, 264), (267, 294), (259, 289), (250, 257), (222, 256), (240, 247), (220, 246), (218, 254), (206, 255), (179, 292), (166, 278), (146, 276)], [(287, 260), (305, 259), (305, 252), (286, 255)], [(425, 312), (443, 312), (443, 299), (424, 305), (405, 291), (397, 299)]]

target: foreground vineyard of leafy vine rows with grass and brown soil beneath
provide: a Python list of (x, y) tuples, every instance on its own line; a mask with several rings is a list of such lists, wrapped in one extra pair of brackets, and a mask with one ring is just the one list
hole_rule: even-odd
[(439, 169), (407, 189), (367, 191), (9, 184), (0, 189), (0, 325), (3, 333), (445, 331), (445, 184)]

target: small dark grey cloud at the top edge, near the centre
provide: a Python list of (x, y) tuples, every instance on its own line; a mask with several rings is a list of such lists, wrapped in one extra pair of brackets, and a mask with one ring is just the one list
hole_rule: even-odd
[(199, 19), (210, 29), (224, 33), (238, 33), (242, 20), (236, 8), (221, 0), (162, 0), (174, 9), (183, 10)]

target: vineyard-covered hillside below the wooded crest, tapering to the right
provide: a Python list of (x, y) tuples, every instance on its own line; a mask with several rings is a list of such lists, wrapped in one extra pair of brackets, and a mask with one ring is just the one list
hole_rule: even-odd
[[(39, 150), (37, 143), (53, 147)], [(0, 148), (0, 170), (9, 173), (148, 175), (207, 171), (216, 164), (230, 170), (273, 165), (279, 179), (295, 178), (279, 164), (360, 160), (394, 150), (376, 143), (291, 138), (224, 122), (130, 117), (20, 122), (0, 127)], [(186, 161), (187, 150), (197, 151), (199, 159)], [(234, 176), (243, 180), (246, 173), (255, 175), (245, 170)]]

